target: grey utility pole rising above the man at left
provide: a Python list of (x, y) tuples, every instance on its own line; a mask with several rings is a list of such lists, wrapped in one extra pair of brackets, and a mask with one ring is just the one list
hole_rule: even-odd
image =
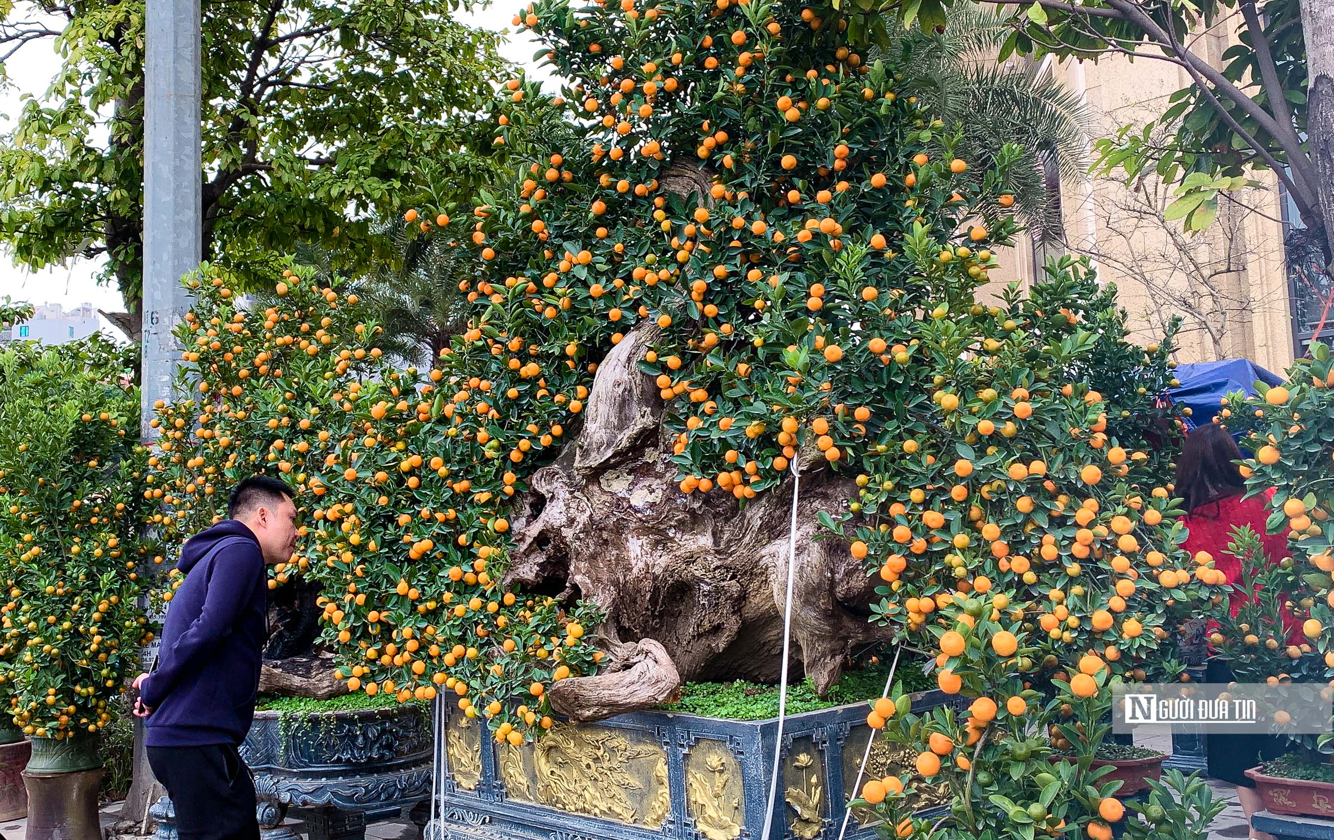
[(172, 327), (189, 308), (181, 276), (201, 259), (200, 0), (147, 0), (144, 77), (143, 433), (171, 395)]

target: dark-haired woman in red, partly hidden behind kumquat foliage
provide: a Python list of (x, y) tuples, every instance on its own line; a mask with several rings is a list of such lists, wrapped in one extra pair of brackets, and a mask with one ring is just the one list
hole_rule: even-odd
[[(1177, 461), (1175, 479), (1177, 496), (1189, 511), (1182, 521), (1190, 529), (1190, 536), (1182, 543), (1182, 548), (1191, 556), (1205, 551), (1214, 557), (1214, 568), (1227, 577), (1229, 615), (1233, 617), (1249, 600), (1249, 593), (1241, 588), (1241, 561), (1227, 553), (1227, 544), (1233, 541), (1233, 528), (1250, 525), (1259, 536), (1269, 563), (1279, 563), (1289, 553), (1287, 536), (1267, 533), (1265, 528), (1265, 521), (1269, 519), (1267, 503), (1274, 489), (1242, 499), (1246, 493), (1246, 480), (1237, 465), (1239, 460), (1242, 452), (1226, 428), (1217, 423), (1201, 425), (1186, 436), (1181, 459)], [(1285, 615), (1283, 623), (1295, 624), (1295, 620), (1290, 619)], [(1301, 635), (1301, 629), (1295, 629)], [(1209, 660), (1205, 671), (1206, 683), (1231, 683), (1233, 679), (1226, 661), (1217, 657)], [(1209, 775), (1237, 785), (1237, 799), (1249, 823), (1250, 816), (1261, 811), (1263, 804), (1255, 792), (1255, 783), (1245, 776), (1245, 771), (1262, 760), (1283, 755), (1287, 739), (1270, 735), (1206, 735), (1205, 741), (1209, 752)], [(1251, 829), (1251, 837), (1265, 840), (1270, 836)]]

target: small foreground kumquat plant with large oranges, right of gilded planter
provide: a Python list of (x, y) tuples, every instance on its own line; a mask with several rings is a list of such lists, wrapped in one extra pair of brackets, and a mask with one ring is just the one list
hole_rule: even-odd
[[(974, 596), (947, 604), (950, 629), (936, 628), (942, 661), (972, 697), (963, 709), (939, 707), (911, 712), (910, 697), (894, 692), (874, 703), (871, 727), (891, 743), (918, 751), (912, 771), (868, 779), (855, 805), (879, 817), (886, 837), (1058, 837), (1079, 832), (1094, 840), (1113, 836), (1126, 821), (1133, 837), (1198, 839), (1222, 809), (1198, 776), (1171, 772), (1150, 780), (1147, 801), (1123, 801), (1122, 781), (1095, 765), (1109, 735), (1110, 684), (1121, 679), (1097, 655), (1066, 668), (1065, 680), (1043, 691), (1023, 672), (1025, 657), (1041, 640), (996, 605), (999, 596)], [(912, 813), (916, 785), (944, 785), (947, 813)]]

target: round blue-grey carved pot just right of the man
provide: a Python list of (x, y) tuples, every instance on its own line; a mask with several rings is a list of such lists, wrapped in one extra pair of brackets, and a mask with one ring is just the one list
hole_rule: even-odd
[(431, 795), (431, 719), (416, 704), (346, 712), (256, 712), (240, 753), (265, 833), (304, 811), (311, 840), (366, 833), (370, 816)]

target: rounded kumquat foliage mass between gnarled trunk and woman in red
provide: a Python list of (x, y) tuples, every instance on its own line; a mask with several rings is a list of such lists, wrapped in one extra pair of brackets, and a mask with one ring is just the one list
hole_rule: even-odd
[(1179, 627), (1221, 597), (1222, 573), (1178, 548), (1162, 455), (1177, 428), (1155, 401), (1170, 344), (1129, 348), (1086, 264), (1047, 272), (996, 313), (919, 328), (903, 356), (919, 365), (908, 381), (932, 384), (927, 416), (864, 456), (851, 552), (887, 584), (876, 619), (907, 639), (958, 593), (995, 592), (1042, 633), (1026, 671), (1061, 680), (1077, 645), (1133, 679), (1177, 679)]

